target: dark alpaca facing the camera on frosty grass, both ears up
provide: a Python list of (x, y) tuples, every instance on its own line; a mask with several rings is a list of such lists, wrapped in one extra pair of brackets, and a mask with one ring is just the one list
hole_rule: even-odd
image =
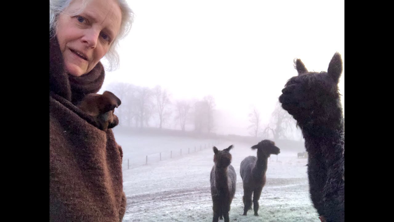
[[(234, 167), (231, 166), (231, 154), (230, 149), (232, 145), (227, 149), (218, 151), (216, 147), (214, 149), (214, 163), (215, 165), (211, 170), (211, 195), (214, 206), (214, 218), (212, 222), (223, 219), (225, 222), (229, 222), (229, 211), (232, 198), (235, 194), (235, 186), (237, 181), (237, 175)], [(223, 217), (222, 217), (223, 216)]]

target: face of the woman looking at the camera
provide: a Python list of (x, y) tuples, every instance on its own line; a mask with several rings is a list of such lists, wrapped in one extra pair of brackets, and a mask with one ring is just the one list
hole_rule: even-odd
[(56, 33), (65, 69), (74, 76), (88, 73), (104, 57), (122, 19), (116, 0), (89, 1), (82, 13), (70, 16), (81, 5), (81, 0), (74, 0), (59, 15)]

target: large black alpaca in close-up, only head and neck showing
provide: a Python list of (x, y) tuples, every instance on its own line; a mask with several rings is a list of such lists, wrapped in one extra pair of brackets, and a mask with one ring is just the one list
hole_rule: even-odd
[(338, 81), (342, 59), (335, 53), (327, 72), (308, 72), (288, 80), (279, 102), (297, 120), (308, 152), (309, 192), (322, 221), (345, 220), (345, 129)]

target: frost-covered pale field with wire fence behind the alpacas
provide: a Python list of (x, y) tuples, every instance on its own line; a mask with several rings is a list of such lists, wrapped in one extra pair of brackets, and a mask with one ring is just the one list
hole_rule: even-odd
[[(250, 149), (254, 144), (237, 144), (231, 141), (217, 144), (217, 141), (186, 137), (130, 137), (116, 132), (115, 137), (123, 148), (123, 186), (127, 197), (123, 222), (212, 221), (209, 182), (210, 170), (214, 164), (212, 142), (219, 150), (234, 144), (230, 153), (232, 166), (237, 172), (237, 189), (231, 204), (230, 221), (320, 221), (309, 198), (305, 166), (307, 159), (297, 158), (297, 151), (282, 150), (278, 156), (271, 156), (267, 183), (259, 200), (259, 216), (254, 216), (253, 210), (248, 211), (247, 216), (242, 216), (243, 188), (239, 170), (243, 158), (256, 155), (256, 151)], [(197, 152), (194, 152), (194, 146), (197, 146)], [(191, 147), (190, 154), (187, 152), (188, 147)], [(150, 158), (150, 154), (178, 151), (181, 148), (185, 149), (182, 150), (182, 156), (162, 156), (162, 161)], [(145, 155), (148, 155), (148, 164), (141, 165), (145, 164)], [(127, 169), (126, 163), (125, 168), (127, 159), (132, 158), (142, 158), (139, 166), (135, 164), (133, 168)]]

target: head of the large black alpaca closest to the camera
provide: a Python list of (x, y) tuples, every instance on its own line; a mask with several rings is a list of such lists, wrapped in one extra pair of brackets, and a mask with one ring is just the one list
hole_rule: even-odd
[(327, 72), (309, 72), (300, 59), (294, 61), (297, 76), (288, 80), (279, 102), (282, 108), (302, 125), (313, 121), (327, 121), (340, 106), (338, 81), (342, 73), (342, 59), (335, 53)]

